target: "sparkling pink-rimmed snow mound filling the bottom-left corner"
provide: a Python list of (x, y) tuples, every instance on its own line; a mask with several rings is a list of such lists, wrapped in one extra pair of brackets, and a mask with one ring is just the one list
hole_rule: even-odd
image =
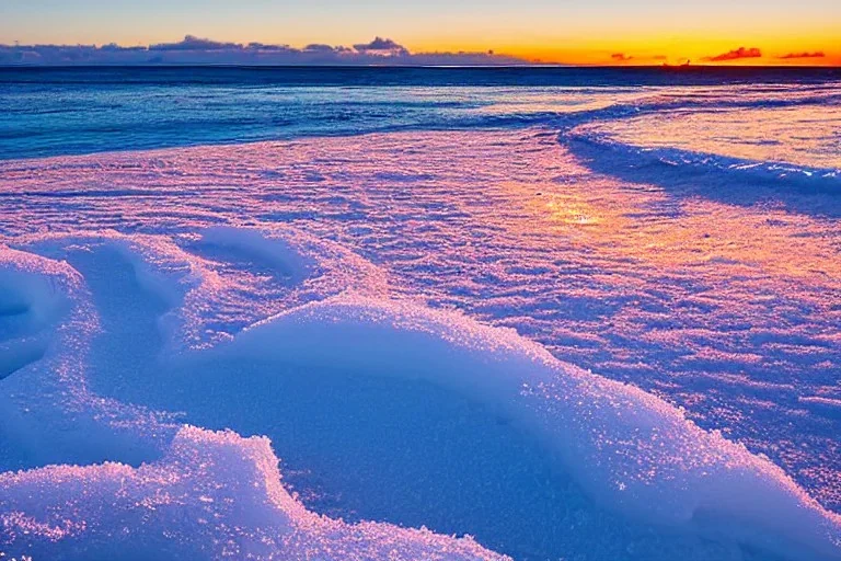
[(183, 427), (157, 462), (0, 476), (0, 550), (34, 559), (503, 560), (472, 538), (308, 512), (267, 438)]

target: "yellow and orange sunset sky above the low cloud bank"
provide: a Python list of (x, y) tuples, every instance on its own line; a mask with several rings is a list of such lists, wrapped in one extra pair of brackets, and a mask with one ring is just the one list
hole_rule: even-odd
[[(0, 44), (389, 37), (564, 64), (841, 65), (839, 0), (0, 0)], [(809, 55), (809, 56), (806, 56)]]

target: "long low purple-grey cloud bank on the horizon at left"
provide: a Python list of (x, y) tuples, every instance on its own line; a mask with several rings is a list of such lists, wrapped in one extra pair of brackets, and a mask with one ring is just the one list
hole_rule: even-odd
[(0, 65), (528, 65), (487, 53), (410, 53), (388, 38), (352, 47), (313, 44), (303, 48), (263, 43), (221, 43), (187, 35), (148, 47), (103, 45), (0, 45)]

